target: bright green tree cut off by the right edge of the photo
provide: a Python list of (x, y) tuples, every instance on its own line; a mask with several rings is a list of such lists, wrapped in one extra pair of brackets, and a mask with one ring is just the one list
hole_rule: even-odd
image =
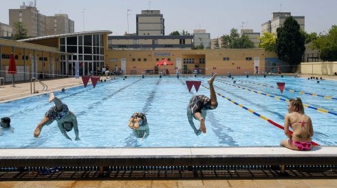
[(337, 60), (337, 25), (332, 25), (327, 34), (318, 36), (313, 42), (313, 47), (318, 49), (320, 59), (324, 61)]

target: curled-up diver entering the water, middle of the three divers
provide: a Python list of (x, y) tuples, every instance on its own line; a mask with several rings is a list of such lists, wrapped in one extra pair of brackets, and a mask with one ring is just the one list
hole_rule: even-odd
[(129, 119), (129, 128), (132, 129), (135, 137), (146, 139), (150, 135), (149, 124), (143, 113), (133, 113)]

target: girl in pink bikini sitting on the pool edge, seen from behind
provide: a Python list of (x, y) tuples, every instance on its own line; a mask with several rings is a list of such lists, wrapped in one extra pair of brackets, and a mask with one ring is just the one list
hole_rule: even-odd
[[(290, 99), (288, 112), (284, 118), (284, 133), (289, 139), (281, 142), (281, 146), (292, 150), (311, 150), (312, 136), (312, 119), (304, 114), (302, 100), (300, 98)], [(293, 134), (289, 128), (292, 128)]]

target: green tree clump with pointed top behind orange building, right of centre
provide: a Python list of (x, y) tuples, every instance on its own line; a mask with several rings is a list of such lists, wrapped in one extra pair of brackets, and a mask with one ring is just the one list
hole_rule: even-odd
[(254, 43), (252, 40), (248, 38), (247, 35), (243, 34), (242, 36), (239, 35), (237, 29), (232, 28), (230, 30), (230, 34), (226, 34), (221, 36), (224, 47), (231, 48), (231, 49), (241, 49), (241, 48), (252, 48), (254, 47)]

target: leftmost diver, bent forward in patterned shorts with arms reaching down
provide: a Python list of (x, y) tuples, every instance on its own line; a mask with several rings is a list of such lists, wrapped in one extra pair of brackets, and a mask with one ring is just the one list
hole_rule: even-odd
[(72, 140), (67, 135), (67, 132), (74, 128), (76, 136), (75, 140), (80, 140), (80, 138), (78, 137), (76, 116), (68, 109), (67, 104), (64, 104), (63, 102), (61, 102), (61, 99), (55, 97), (54, 93), (50, 93), (49, 102), (54, 102), (55, 106), (52, 106), (45, 113), (45, 117), (43, 117), (41, 122), (36, 126), (34, 130), (34, 137), (39, 137), (43, 126), (49, 126), (54, 120), (56, 120), (58, 128), (60, 129), (63, 136), (65, 136), (69, 140)]

